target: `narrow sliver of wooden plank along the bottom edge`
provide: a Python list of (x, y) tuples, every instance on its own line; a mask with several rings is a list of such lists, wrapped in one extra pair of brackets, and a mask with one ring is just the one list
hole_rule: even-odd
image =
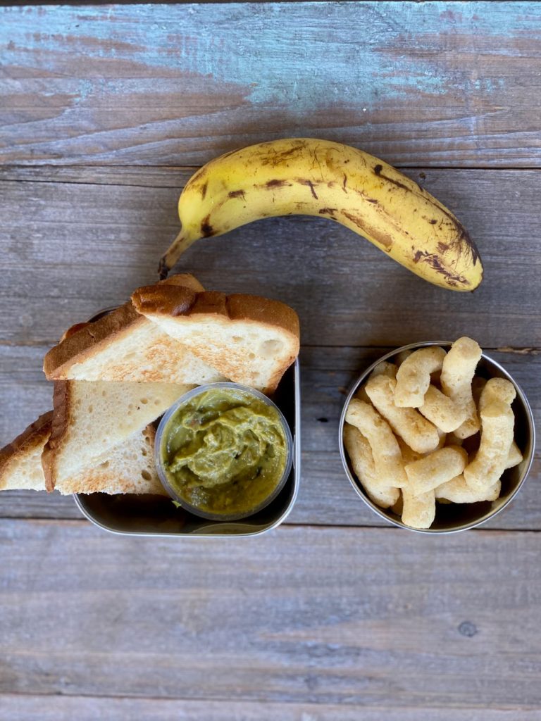
[(538, 721), (538, 709), (394, 709), (341, 704), (116, 699), (93, 696), (0, 696), (4, 721)]

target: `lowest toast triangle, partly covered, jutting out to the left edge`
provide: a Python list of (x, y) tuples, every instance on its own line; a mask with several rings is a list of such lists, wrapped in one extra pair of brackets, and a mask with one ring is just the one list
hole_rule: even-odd
[[(41, 466), (43, 446), (50, 435), (53, 412), (40, 416), (24, 433), (0, 450), (0, 490), (45, 490)], [(152, 493), (167, 495), (154, 466), (154, 428), (147, 426), (120, 446), (112, 448), (106, 459), (99, 459), (64, 480), (56, 490), (70, 493)]]

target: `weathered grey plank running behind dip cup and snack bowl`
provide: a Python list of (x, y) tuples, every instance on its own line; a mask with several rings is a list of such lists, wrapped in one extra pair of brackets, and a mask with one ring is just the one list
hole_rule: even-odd
[[(45, 347), (0, 346), (0, 402), (10, 409), (0, 416), (0, 446), (12, 440), (50, 407), (50, 384), (41, 373)], [(338, 420), (345, 389), (384, 348), (303, 348), (302, 483), (288, 523), (382, 526), (349, 485), (338, 454)], [(493, 351), (522, 385), (541, 422), (541, 355)], [(527, 483), (509, 508), (487, 528), (541, 530), (541, 441)], [(0, 494), (0, 518), (79, 518), (71, 497), (32, 491)]]

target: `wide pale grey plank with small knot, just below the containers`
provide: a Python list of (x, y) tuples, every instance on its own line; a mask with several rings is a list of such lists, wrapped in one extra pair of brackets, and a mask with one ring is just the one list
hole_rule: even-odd
[(3, 521), (0, 547), (4, 694), (541, 704), (538, 534), (289, 526), (195, 549)]

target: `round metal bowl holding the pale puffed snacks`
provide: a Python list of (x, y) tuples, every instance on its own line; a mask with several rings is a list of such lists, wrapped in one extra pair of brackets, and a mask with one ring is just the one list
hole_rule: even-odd
[(380, 518), (383, 518), (384, 521), (389, 521), (389, 523), (393, 523), (395, 526), (408, 528), (408, 531), (416, 531), (417, 533), (422, 534), (452, 534), (457, 533), (458, 531), (466, 531), (467, 528), (480, 526), (481, 523), (485, 523), (485, 521), (488, 521), (489, 518), (493, 518), (493, 516), (496, 516), (496, 513), (503, 510), (503, 508), (511, 502), (511, 499), (516, 495), (516, 493), (519, 492), (519, 489), (524, 483), (524, 479), (527, 477), (534, 459), (535, 426), (532, 409), (529, 407), (527, 398), (519, 384), (516, 383), (505, 368), (502, 368), (499, 363), (496, 363), (496, 361), (493, 361), (492, 358), (483, 353), (475, 373), (480, 376), (484, 376), (487, 379), (505, 378), (508, 381), (511, 381), (514, 385), (516, 389), (516, 398), (514, 399), (512, 406), (515, 415), (514, 433), (516, 444), (522, 452), (523, 459), (517, 466), (514, 466), (514, 468), (507, 469), (503, 472), (503, 476), (501, 478), (501, 494), (495, 501), (483, 501), (482, 503), (436, 503), (436, 518), (434, 519), (434, 523), (431, 528), (411, 528), (411, 526), (406, 526), (405, 523), (400, 520), (400, 516), (397, 516), (397, 514), (393, 513), (392, 510), (379, 508), (379, 506), (372, 503), (364, 492), (361, 482), (357, 479), (353, 472), (353, 468), (351, 467), (351, 463), (343, 444), (343, 427), (348, 404), (353, 398), (353, 395), (356, 394), (364, 383), (366, 383), (374, 368), (379, 363), (382, 363), (382, 361), (392, 363), (393, 358), (404, 350), (417, 350), (418, 348), (426, 348), (428, 345), (440, 345), (442, 348), (449, 348), (452, 343), (449, 341), (438, 340), (410, 343), (410, 345), (404, 345), (402, 348), (397, 348), (386, 355), (382, 355), (382, 358), (379, 358), (379, 360), (372, 363), (369, 368), (366, 368), (366, 371), (364, 371), (364, 373), (359, 376), (359, 379), (355, 381), (348, 397), (346, 398), (342, 414), (340, 415), (338, 443), (340, 448), (340, 457), (351, 485), (356, 490), (357, 495), (364, 500), (364, 503), (366, 503), (366, 505), (368, 505), (374, 513), (377, 513)]

